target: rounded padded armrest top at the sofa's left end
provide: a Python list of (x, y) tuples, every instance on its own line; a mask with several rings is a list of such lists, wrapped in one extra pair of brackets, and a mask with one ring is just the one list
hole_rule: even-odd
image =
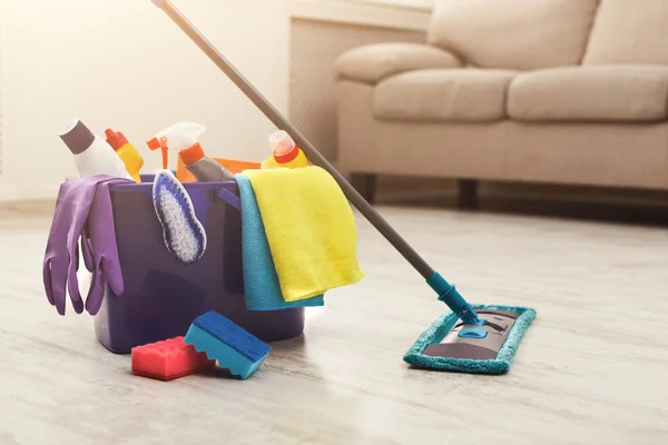
[(336, 60), (336, 79), (375, 85), (406, 71), (461, 68), (462, 62), (446, 50), (429, 44), (387, 42), (366, 44), (344, 52)]

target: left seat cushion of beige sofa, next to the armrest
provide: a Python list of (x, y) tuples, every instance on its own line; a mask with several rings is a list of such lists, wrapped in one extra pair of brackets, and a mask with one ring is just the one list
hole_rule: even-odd
[(505, 91), (514, 71), (433, 69), (381, 81), (374, 116), (402, 121), (493, 121), (505, 117)]

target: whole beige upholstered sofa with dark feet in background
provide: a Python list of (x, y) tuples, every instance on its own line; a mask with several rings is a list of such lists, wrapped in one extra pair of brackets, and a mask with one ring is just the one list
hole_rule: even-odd
[(442, 0), (428, 43), (337, 60), (337, 165), (668, 189), (668, 0)]

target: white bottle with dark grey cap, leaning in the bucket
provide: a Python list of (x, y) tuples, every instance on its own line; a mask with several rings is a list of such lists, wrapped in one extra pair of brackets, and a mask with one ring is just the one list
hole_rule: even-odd
[(132, 179), (114, 148), (79, 119), (69, 119), (60, 127), (58, 135), (75, 155), (79, 176), (109, 175)]

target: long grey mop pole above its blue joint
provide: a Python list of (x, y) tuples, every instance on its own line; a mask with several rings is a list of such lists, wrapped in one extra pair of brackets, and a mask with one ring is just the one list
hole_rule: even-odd
[(334, 177), (346, 198), (362, 215), (394, 246), (396, 250), (424, 277), (431, 279), (434, 269), (381, 217), (381, 215), (355, 190), (353, 186), (322, 156), (315, 147), (276, 110), (259, 91), (220, 53), (197, 28), (174, 6), (170, 0), (151, 0), (212, 59), (214, 63), (255, 103), (255, 106), (279, 129), (285, 130), (314, 165)]

